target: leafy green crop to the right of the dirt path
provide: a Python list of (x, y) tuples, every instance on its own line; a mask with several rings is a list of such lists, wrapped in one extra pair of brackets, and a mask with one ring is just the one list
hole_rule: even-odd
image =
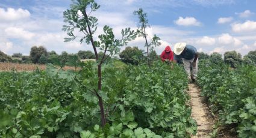
[(208, 97), (222, 124), (236, 126), (239, 137), (255, 137), (256, 68), (230, 68), (225, 64), (201, 62), (198, 85)]

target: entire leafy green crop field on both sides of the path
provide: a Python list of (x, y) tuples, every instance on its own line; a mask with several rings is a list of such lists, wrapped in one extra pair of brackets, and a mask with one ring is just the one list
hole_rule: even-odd
[[(126, 65), (109, 61), (102, 66), (106, 124), (94, 91), (97, 65), (81, 70), (0, 73), (1, 137), (190, 137), (196, 134), (181, 65), (156, 61)], [(211, 112), (238, 137), (255, 137), (256, 68), (230, 68), (208, 60), (200, 64), (198, 86)]]

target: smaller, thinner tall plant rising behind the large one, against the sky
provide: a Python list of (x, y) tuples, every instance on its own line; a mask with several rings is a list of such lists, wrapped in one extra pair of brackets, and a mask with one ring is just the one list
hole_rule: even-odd
[(139, 8), (139, 10), (134, 11), (134, 15), (137, 15), (139, 17), (140, 25), (138, 25), (139, 29), (137, 29), (137, 33), (139, 37), (145, 38), (145, 47), (147, 47), (147, 57), (149, 58), (149, 48), (153, 49), (153, 47), (151, 46), (160, 46), (160, 38), (154, 34), (154, 37), (151, 39), (151, 42), (148, 43), (148, 34), (146, 34), (146, 28), (150, 26), (148, 25), (148, 19), (146, 19), (147, 14), (144, 13), (142, 8)]

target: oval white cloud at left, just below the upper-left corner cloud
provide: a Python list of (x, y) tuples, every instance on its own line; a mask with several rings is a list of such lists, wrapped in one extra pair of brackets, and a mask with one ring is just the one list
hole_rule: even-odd
[(23, 28), (9, 27), (6, 28), (4, 31), (7, 36), (11, 38), (22, 38), (25, 40), (30, 40), (34, 37), (34, 34), (32, 32), (25, 31)]

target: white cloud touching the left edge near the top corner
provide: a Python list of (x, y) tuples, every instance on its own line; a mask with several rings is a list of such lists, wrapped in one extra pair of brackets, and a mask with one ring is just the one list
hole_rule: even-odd
[(13, 21), (13, 20), (20, 20), (30, 17), (30, 11), (23, 10), (19, 8), (15, 10), (14, 8), (7, 8), (5, 11), (4, 8), (0, 8), (0, 20), (4, 21)]

